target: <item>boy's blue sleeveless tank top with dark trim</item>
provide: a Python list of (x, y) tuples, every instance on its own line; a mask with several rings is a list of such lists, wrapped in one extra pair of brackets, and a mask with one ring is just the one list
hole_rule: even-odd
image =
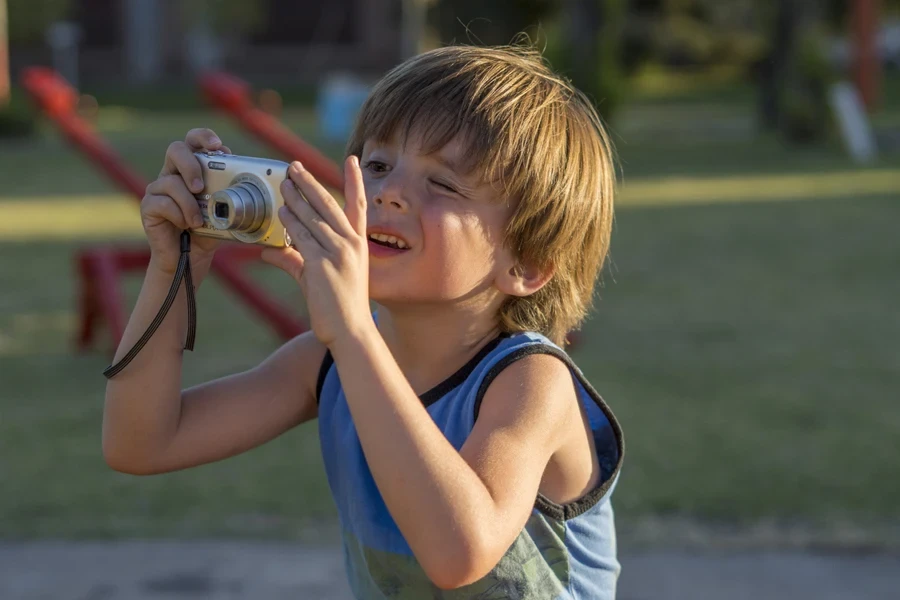
[(619, 563), (610, 495), (624, 453), (622, 432), (571, 358), (542, 335), (502, 335), (420, 399), (457, 449), (472, 431), (491, 381), (529, 354), (558, 357), (572, 372), (600, 462), (597, 487), (560, 505), (542, 494), (525, 528), (491, 572), (455, 590), (428, 579), (375, 485), (330, 353), (319, 371), (319, 437), (337, 505), (350, 587), (359, 600), (613, 600)]

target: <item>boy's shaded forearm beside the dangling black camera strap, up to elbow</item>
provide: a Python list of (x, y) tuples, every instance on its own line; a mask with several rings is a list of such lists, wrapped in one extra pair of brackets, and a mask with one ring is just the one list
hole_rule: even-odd
[[(197, 287), (209, 263), (192, 263), (191, 268)], [(112, 364), (121, 360), (147, 330), (172, 281), (173, 275), (158, 269), (151, 260)], [(159, 328), (128, 366), (107, 382), (103, 451), (111, 464), (136, 460), (142, 453), (153, 452), (171, 439), (177, 429), (181, 413), (181, 361), (188, 321), (186, 298), (182, 282)]]

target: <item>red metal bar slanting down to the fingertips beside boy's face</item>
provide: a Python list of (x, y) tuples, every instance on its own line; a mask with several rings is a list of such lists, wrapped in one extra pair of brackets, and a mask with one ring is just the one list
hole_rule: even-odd
[(334, 161), (304, 142), (275, 117), (257, 108), (246, 82), (227, 73), (207, 73), (200, 78), (200, 89), (211, 105), (231, 115), (244, 129), (288, 160), (302, 162), (322, 184), (343, 191), (344, 176)]

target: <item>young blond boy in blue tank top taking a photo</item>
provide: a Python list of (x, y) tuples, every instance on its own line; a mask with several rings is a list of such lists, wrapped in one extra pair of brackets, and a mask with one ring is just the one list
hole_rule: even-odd
[[(192, 152), (220, 148), (191, 131), (147, 189), (152, 260), (116, 361), (200, 216)], [(442, 48), (376, 85), (347, 154), (343, 210), (291, 165), (294, 247), (264, 252), (297, 280), (312, 331), (181, 391), (176, 300), (108, 384), (107, 462), (183, 469), (318, 418), (358, 598), (613, 598), (622, 435), (560, 349), (609, 246), (614, 169), (594, 109), (533, 51)], [(199, 283), (216, 242), (191, 244)]]

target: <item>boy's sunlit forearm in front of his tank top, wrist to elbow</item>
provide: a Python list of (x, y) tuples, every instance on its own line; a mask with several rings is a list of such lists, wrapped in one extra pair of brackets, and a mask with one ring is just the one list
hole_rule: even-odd
[(374, 325), (331, 351), (366, 461), (416, 557), (426, 571), (424, 553), (470, 560), (482, 550), (473, 536), (492, 535), (487, 487), (435, 425)]

